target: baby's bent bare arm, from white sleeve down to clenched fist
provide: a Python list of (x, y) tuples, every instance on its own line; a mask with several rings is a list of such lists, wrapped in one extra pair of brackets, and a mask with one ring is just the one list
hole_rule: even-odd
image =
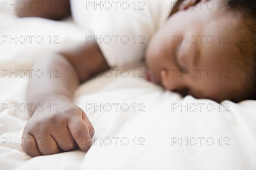
[[(109, 66), (96, 43), (52, 53), (38, 61), (33, 69), (42, 69), (43, 78), (29, 80), (27, 103), (43, 104), (43, 111), (32, 107), (23, 137), (23, 150), (30, 156), (49, 155), (79, 147), (88, 150), (93, 126), (84, 111), (72, 103), (79, 82), (86, 81), (88, 70), (103, 71)], [(49, 78), (49, 72), (51, 76)], [(55, 78), (55, 73), (58, 78)], [(58, 107), (58, 108), (57, 108)], [(55, 110), (54, 110), (55, 109)], [(55, 144), (55, 141), (57, 144)]]

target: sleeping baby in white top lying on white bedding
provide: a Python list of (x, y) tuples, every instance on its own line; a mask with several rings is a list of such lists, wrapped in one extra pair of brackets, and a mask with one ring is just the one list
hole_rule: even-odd
[[(23, 130), (29, 140), (23, 150), (29, 156), (90, 148), (93, 126), (72, 102), (79, 84), (93, 76), (87, 70), (97, 74), (145, 56), (148, 80), (167, 90), (217, 102), (256, 96), (256, 0), (118, 1), (116, 7), (122, 3), (122, 8), (112, 10), (97, 10), (96, 1), (54, 2), (58, 10), (32, 7), (17, 9), (17, 15), (60, 20), (72, 12), (75, 22), (92, 36), (35, 64), (34, 69), (45, 72), (58, 69), (59, 78), (30, 78), (28, 103), (58, 103), (60, 111), (44, 107), (42, 112), (35, 108), (29, 112), (31, 118)], [(127, 6), (132, 9), (126, 10)], [(126, 35), (130, 40), (102, 43), (100, 35)], [(38, 144), (39, 137), (56, 144)]]

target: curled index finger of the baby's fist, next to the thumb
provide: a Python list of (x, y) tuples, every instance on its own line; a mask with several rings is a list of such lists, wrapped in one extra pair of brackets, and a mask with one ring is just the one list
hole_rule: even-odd
[[(91, 144), (90, 133), (87, 124), (80, 116), (70, 118), (67, 123), (71, 135), (81, 150), (87, 151)], [(89, 142), (90, 141), (90, 142)]]

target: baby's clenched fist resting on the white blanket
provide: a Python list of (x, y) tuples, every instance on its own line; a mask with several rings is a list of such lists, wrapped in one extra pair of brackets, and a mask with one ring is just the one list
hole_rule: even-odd
[(77, 147), (87, 151), (92, 145), (94, 129), (84, 111), (70, 102), (57, 105), (58, 112), (54, 112), (45, 104), (43, 111), (35, 111), (24, 127), (26, 144), (22, 148), (29, 156), (51, 155)]

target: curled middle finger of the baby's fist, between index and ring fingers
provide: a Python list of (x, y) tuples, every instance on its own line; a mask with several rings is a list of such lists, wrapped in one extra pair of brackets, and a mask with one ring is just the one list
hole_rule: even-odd
[(78, 147), (70, 130), (66, 126), (52, 136), (54, 136), (55, 141), (58, 143), (58, 147), (65, 152), (75, 150)]

